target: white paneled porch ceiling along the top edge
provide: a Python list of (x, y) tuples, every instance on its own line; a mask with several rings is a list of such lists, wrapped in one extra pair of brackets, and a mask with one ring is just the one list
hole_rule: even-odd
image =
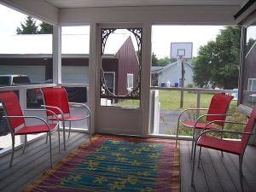
[(247, 0), (44, 0), (57, 8), (154, 6), (154, 5), (240, 5)]

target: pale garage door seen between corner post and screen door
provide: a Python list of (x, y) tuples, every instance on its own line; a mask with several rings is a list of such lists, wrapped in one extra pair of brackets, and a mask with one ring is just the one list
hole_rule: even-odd
[(84, 66), (62, 66), (62, 83), (67, 84), (89, 84), (89, 67)]

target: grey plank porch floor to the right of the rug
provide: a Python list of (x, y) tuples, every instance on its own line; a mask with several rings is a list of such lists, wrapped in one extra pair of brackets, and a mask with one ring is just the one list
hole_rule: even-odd
[[(238, 156), (202, 148), (200, 168), (195, 163), (195, 188), (191, 187), (191, 142), (180, 142), (181, 191), (183, 192), (240, 192)], [(198, 153), (197, 153), (198, 154)], [(243, 159), (245, 192), (256, 191), (256, 148), (247, 146)]]

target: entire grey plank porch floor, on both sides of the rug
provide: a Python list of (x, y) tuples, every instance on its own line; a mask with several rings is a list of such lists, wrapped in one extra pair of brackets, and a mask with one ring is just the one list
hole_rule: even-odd
[[(67, 150), (61, 146), (61, 154), (58, 153), (58, 139), (53, 137), (53, 160), (56, 163), (61, 160), (81, 143), (88, 140), (84, 133), (72, 133), (67, 139)], [(181, 165), (181, 191), (182, 192), (236, 192), (241, 191), (238, 174), (238, 157), (224, 154), (221, 156), (211, 149), (202, 150), (201, 166), (195, 169), (195, 188), (191, 187), (191, 142), (180, 142), (180, 165)], [(26, 147), (26, 153), (22, 150), (15, 151), (15, 159), (12, 167), (9, 167), (10, 155), (0, 158), (0, 191), (20, 191), (49, 168), (49, 145), (45, 138)], [(244, 188), (247, 192), (256, 191), (256, 148), (248, 146), (243, 164)]]

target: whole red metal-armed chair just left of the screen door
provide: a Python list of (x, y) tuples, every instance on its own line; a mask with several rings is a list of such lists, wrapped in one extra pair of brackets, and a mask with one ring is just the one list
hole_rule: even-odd
[[(66, 137), (65, 137), (65, 121), (69, 122), (68, 138), (70, 137), (71, 122), (88, 119), (88, 130), (90, 131), (90, 108), (83, 103), (68, 102), (67, 91), (63, 87), (59, 88), (42, 88), (44, 96), (44, 107), (48, 110), (53, 111), (58, 115), (58, 118), (52, 117), (51, 113), (46, 113), (49, 120), (60, 120), (63, 123), (63, 143), (64, 150), (66, 149)], [(70, 113), (69, 105), (82, 106), (86, 109), (85, 115), (72, 115)], [(91, 131), (90, 131), (91, 141)]]

